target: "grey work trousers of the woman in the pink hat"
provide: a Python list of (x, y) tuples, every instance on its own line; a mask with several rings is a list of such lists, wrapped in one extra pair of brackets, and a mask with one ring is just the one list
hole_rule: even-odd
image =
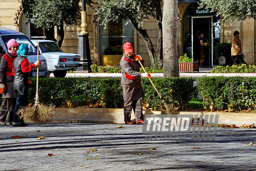
[(1, 110), (0, 110), (0, 122), (5, 122), (7, 117), (7, 122), (13, 121), (14, 107), (16, 105), (16, 98), (3, 98)]

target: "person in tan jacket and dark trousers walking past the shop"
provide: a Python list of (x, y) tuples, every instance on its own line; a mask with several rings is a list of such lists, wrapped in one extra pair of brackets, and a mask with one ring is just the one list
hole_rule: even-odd
[(232, 39), (231, 58), (229, 61), (230, 67), (234, 64), (236, 58), (239, 60), (240, 64), (246, 64), (246, 62), (243, 60), (242, 43), (239, 38), (239, 34), (239, 31), (235, 31), (233, 34), (234, 38)]

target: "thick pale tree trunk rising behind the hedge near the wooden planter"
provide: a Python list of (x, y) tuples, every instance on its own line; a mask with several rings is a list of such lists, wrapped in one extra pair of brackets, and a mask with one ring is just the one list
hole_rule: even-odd
[(179, 77), (177, 47), (178, 0), (164, 0), (163, 70), (164, 77)]

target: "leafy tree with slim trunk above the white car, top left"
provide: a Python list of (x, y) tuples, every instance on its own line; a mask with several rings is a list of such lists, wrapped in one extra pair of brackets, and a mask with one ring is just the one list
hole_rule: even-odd
[[(36, 27), (50, 29), (57, 26), (57, 43), (61, 47), (64, 26), (81, 21), (80, 0), (21, 0), (21, 9)], [(92, 3), (91, 0), (86, 0)]]

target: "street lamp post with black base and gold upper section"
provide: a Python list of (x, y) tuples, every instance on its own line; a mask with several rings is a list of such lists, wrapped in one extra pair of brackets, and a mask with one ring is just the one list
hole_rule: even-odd
[(80, 64), (82, 66), (78, 69), (86, 71), (88, 73), (92, 72), (91, 65), (92, 59), (90, 55), (90, 46), (89, 46), (89, 34), (87, 32), (87, 13), (86, 13), (86, 6), (85, 0), (82, 0), (82, 12), (81, 12), (81, 34), (79, 34), (78, 40), (78, 54), (80, 54)]

